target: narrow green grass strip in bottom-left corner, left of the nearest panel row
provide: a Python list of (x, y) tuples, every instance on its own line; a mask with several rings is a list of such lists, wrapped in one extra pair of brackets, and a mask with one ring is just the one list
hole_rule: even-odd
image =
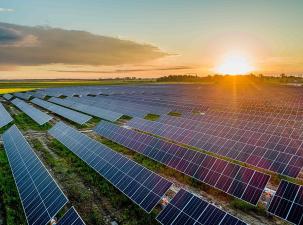
[(18, 191), (2, 146), (0, 146), (0, 195), (5, 210), (5, 224), (26, 225)]

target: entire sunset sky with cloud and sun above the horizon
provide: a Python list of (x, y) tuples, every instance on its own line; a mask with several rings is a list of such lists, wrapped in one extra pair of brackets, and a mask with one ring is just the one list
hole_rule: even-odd
[(0, 79), (303, 74), (302, 41), (302, 0), (0, 1)]

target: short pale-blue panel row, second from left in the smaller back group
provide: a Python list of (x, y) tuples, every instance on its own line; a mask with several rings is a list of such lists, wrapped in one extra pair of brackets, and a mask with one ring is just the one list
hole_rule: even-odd
[(11, 101), (15, 106), (17, 106), (21, 111), (23, 111), (26, 115), (31, 117), (34, 121), (36, 121), (39, 125), (43, 125), (49, 122), (53, 117), (49, 116), (48, 114), (36, 109), (32, 105), (15, 98)]

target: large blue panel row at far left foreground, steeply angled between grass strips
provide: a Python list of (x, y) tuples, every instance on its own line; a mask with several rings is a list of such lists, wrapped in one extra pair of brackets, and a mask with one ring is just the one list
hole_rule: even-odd
[(48, 224), (67, 198), (15, 125), (3, 143), (28, 224)]

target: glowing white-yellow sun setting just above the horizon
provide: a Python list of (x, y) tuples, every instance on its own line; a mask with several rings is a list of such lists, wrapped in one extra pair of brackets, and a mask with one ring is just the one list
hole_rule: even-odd
[(253, 69), (247, 57), (233, 53), (226, 55), (215, 71), (219, 74), (245, 75), (251, 73)]

